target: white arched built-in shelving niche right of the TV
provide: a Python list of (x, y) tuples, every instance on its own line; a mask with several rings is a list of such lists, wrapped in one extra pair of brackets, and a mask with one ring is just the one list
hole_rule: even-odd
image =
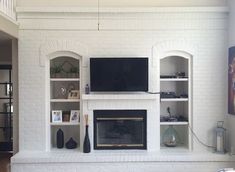
[[(173, 126), (178, 132), (180, 139), (179, 145), (176, 147), (167, 147), (163, 144), (160, 145), (161, 151), (166, 152), (180, 152), (192, 150), (192, 135), (189, 133), (188, 126), (191, 125), (191, 56), (188, 54), (182, 54), (182, 52), (175, 51), (174, 55), (166, 55), (164, 58), (159, 59), (160, 65), (160, 79), (158, 82), (158, 87), (161, 92), (168, 91), (178, 93), (184, 93), (188, 96), (169, 96), (169, 98), (162, 96), (160, 98), (160, 114), (166, 113), (168, 107), (170, 108), (172, 114), (184, 114), (184, 117), (188, 121), (160, 121), (161, 133), (160, 136), (164, 135), (164, 130), (169, 126)], [(177, 72), (184, 72), (186, 76), (184, 77), (170, 77), (171, 74)], [(162, 75), (161, 75), (162, 74)], [(167, 75), (169, 78), (167, 78)], [(165, 78), (164, 78), (165, 75)], [(161, 77), (162, 76), (162, 77)], [(162, 138), (160, 138), (162, 142)]]

